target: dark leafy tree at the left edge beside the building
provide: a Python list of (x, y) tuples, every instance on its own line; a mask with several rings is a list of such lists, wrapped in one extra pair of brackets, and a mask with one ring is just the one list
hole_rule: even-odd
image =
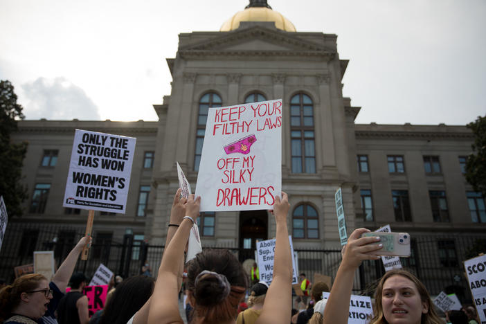
[(17, 131), (17, 120), (24, 119), (22, 109), (10, 81), (0, 80), (0, 195), (9, 218), (22, 215), (21, 203), (27, 198), (27, 189), (20, 181), (27, 143), (12, 143), (10, 139)]

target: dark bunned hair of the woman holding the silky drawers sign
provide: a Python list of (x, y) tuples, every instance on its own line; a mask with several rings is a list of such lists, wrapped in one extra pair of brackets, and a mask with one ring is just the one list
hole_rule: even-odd
[[(218, 276), (200, 276), (196, 285), (197, 276), (204, 270), (226, 277), (231, 285), (228, 296), (222, 298), (223, 287)], [(199, 318), (202, 324), (234, 320), (248, 281), (242, 264), (230, 251), (205, 249), (198, 253), (188, 264), (187, 281), (195, 318)]]

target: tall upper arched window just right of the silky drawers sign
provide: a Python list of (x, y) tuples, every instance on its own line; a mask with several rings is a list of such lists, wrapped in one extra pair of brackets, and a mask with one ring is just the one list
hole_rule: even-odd
[(290, 133), (292, 173), (316, 173), (314, 107), (304, 93), (290, 100)]

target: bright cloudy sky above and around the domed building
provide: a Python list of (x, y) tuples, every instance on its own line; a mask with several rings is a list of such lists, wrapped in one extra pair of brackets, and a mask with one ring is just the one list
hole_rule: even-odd
[[(485, 0), (269, 0), (298, 32), (338, 36), (356, 123), (465, 125), (486, 114)], [(0, 0), (0, 80), (27, 119), (157, 120), (179, 33), (248, 0)]]

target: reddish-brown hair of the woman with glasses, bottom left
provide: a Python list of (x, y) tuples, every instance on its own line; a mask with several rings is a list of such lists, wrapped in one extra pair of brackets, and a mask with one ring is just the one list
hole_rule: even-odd
[(0, 290), (0, 323), (3, 323), (12, 310), (20, 304), (20, 295), (23, 292), (35, 290), (39, 282), (47, 278), (38, 273), (30, 273), (21, 276)]

